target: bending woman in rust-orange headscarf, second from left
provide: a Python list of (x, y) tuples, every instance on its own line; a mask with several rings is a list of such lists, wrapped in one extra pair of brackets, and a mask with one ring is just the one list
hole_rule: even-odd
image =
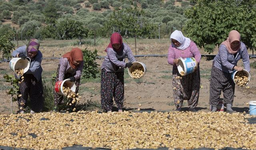
[[(70, 81), (76, 84), (76, 94), (79, 89), (80, 77), (84, 66), (84, 56), (80, 48), (73, 48), (70, 52), (67, 52), (60, 58), (58, 69), (56, 72), (56, 81), (62, 81), (70, 79)], [(58, 111), (58, 106), (64, 104), (63, 95), (59, 95), (54, 91), (54, 109)], [(73, 105), (75, 106), (75, 104)], [(72, 109), (70, 109), (72, 111)]]

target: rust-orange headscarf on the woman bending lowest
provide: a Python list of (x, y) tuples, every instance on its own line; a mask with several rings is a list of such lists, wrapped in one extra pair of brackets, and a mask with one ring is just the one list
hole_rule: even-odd
[(77, 68), (73, 61), (82, 61), (84, 59), (83, 52), (80, 48), (73, 48), (70, 52), (67, 52), (62, 56), (63, 58), (68, 58), (68, 62), (72, 68)]

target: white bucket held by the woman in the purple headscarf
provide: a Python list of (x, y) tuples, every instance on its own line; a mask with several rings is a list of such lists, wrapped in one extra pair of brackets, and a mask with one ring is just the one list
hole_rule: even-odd
[(15, 72), (17, 69), (24, 69), (24, 73), (28, 71), (30, 67), (30, 61), (22, 58), (12, 58), (9, 63), (10, 69)]

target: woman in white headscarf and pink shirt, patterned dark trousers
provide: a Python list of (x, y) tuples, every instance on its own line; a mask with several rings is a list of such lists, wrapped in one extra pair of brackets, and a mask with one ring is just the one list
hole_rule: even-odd
[[(198, 104), (200, 89), (200, 51), (192, 40), (183, 36), (181, 31), (175, 30), (172, 32), (170, 39), (172, 44), (168, 50), (168, 63), (173, 66), (172, 86), (176, 111), (181, 111), (184, 100), (188, 100), (189, 111), (196, 111), (195, 107)], [(180, 57), (194, 57), (198, 66), (197, 69), (195, 68), (194, 72), (185, 76), (180, 75), (177, 68)]]

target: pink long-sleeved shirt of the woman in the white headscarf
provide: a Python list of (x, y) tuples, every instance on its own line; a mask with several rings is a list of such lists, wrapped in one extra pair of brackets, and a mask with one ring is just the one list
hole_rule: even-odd
[(172, 46), (172, 44), (170, 45), (170, 48), (168, 50), (168, 63), (173, 65), (173, 68), (177, 68), (177, 66), (173, 63), (173, 60), (179, 57), (194, 57), (198, 63), (200, 63), (201, 60), (200, 51), (198, 50), (198, 47), (193, 41), (190, 42), (190, 46), (188, 46), (188, 48), (186, 48), (185, 50), (179, 50)]

